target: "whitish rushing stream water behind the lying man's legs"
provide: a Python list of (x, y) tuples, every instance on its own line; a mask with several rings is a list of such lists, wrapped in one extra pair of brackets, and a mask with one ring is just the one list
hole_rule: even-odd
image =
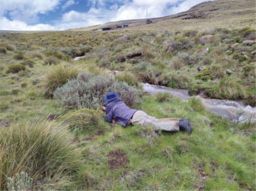
[[(143, 90), (150, 94), (158, 92), (168, 92), (171, 95), (180, 98), (181, 101), (187, 102), (191, 96), (188, 90), (173, 89), (160, 85), (143, 84)], [(197, 96), (202, 100), (202, 103), (208, 111), (211, 111), (219, 116), (226, 116), (234, 122), (256, 122), (256, 107), (245, 106), (242, 101), (233, 100), (217, 100), (208, 99)]]

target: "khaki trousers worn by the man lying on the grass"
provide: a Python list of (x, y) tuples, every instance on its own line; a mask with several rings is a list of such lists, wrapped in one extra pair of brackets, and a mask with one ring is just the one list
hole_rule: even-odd
[(179, 120), (178, 118), (162, 118), (158, 119), (145, 113), (144, 111), (136, 111), (132, 117), (132, 124), (138, 123), (142, 126), (152, 125), (156, 129), (163, 131), (179, 131)]

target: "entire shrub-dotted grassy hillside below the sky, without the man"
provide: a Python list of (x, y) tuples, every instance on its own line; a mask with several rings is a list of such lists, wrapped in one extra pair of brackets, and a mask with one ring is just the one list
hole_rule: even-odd
[[(220, 0), (126, 29), (0, 32), (0, 189), (256, 190), (252, 7)], [(205, 18), (182, 19), (195, 11)], [(191, 135), (106, 122), (108, 91), (148, 115), (189, 118)], [(230, 120), (201, 98), (243, 107)]]

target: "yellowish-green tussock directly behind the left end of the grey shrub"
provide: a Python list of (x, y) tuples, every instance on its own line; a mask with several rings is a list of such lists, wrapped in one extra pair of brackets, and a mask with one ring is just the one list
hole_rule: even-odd
[(51, 98), (57, 87), (65, 84), (70, 78), (76, 78), (78, 69), (72, 65), (57, 65), (53, 69), (46, 71), (45, 94)]

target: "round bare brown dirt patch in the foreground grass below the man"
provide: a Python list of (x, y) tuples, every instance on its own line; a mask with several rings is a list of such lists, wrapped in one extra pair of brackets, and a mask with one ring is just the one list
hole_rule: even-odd
[(109, 169), (114, 170), (119, 167), (126, 167), (129, 163), (127, 155), (121, 149), (117, 151), (110, 151), (108, 154), (108, 166)]

